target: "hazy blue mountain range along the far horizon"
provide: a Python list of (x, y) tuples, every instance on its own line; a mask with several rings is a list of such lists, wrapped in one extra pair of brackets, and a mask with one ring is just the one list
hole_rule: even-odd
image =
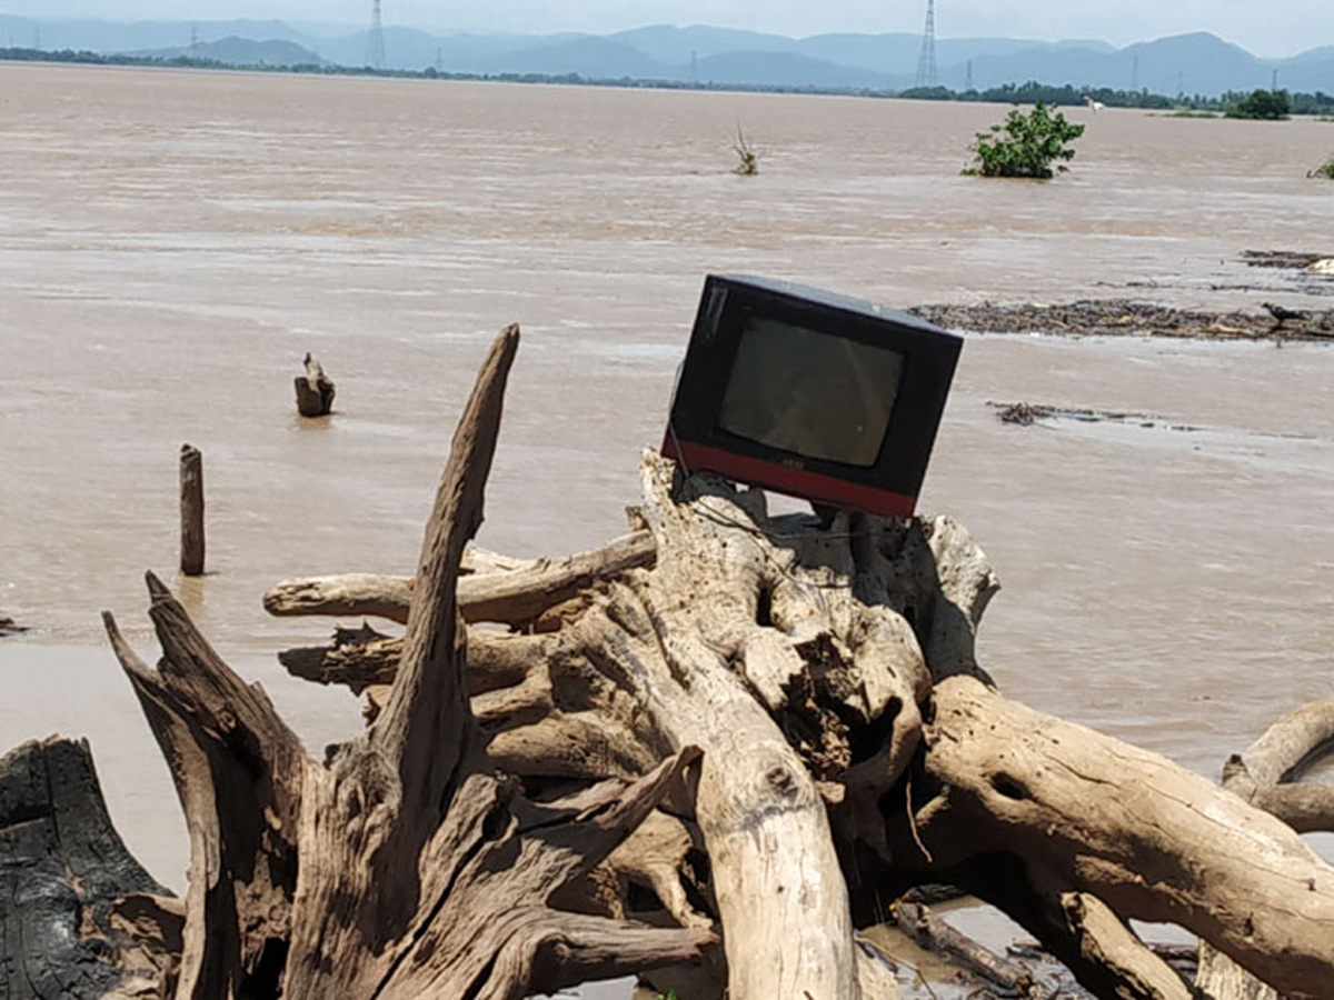
[[(0, 15), (0, 45), (89, 49), (232, 64), (367, 61), (367, 32), (284, 21), (33, 21)], [(40, 44), (35, 44), (39, 43)], [(248, 44), (247, 44), (248, 43)], [(277, 44), (281, 43), (281, 44)], [(614, 35), (432, 35), (384, 28), (386, 68), (495, 76), (578, 75), (738, 87), (900, 91), (915, 83), (918, 35), (783, 35), (651, 25)], [(1261, 59), (1205, 32), (1114, 48), (1105, 41), (939, 39), (939, 83), (978, 89), (1045, 84), (1217, 95), (1267, 88), (1334, 92), (1334, 45)]]

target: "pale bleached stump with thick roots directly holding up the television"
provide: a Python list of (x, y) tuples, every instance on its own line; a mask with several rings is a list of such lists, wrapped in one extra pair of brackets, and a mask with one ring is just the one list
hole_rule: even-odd
[[(791, 899), (784, 880), (827, 889), (826, 837), (856, 921), (910, 885), (948, 880), (1019, 919), (1099, 996), (1186, 989), (1130, 932), (1131, 917), (1195, 929), (1293, 996), (1319, 996), (1334, 975), (1329, 868), (1203, 779), (994, 692), (974, 632), (996, 581), (966, 531), (846, 516), (822, 531), (812, 519), (767, 517), (756, 491), (674, 476), (646, 460), (651, 569), (588, 587), (558, 632), (527, 636), (544, 668), (499, 689), (486, 657), (470, 672), (488, 691), (474, 704), (492, 745), (522, 733), (507, 764), (534, 787), (616, 773), (686, 741), (704, 747), (696, 815), (731, 996), (855, 995), (848, 924), (830, 915), (844, 904), (770, 903)], [(371, 605), (320, 599), (301, 611)], [(312, 673), (331, 680), (327, 652), (308, 655)], [(375, 664), (375, 681), (392, 676), (392, 639), (371, 639), (367, 652), (363, 661), (355, 643), (344, 647), (339, 680), (356, 687), (359, 663)], [(755, 705), (767, 720), (732, 715)], [(807, 812), (812, 800), (828, 833)], [(730, 851), (746, 813), (770, 825)], [(774, 825), (778, 815), (787, 825)], [(764, 847), (780, 843), (804, 872)], [(1255, 857), (1273, 864), (1242, 861)], [(1294, 899), (1299, 919), (1286, 909)], [(775, 941), (806, 956), (795, 973), (804, 980), (782, 979), (794, 963)]]

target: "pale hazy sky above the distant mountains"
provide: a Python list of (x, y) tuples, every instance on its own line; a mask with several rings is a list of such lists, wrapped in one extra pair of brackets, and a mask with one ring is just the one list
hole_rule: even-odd
[[(386, 24), (454, 31), (610, 32), (715, 24), (783, 35), (919, 32), (926, 0), (382, 0)], [(0, 0), (29, 17), (277, 17), (362, 27), (372, 0)], [(1210, 31), (1262, 56), (1334, 45), (1334, 0), (936, 0), (936, 35), (1094, 37), (1118, 45)]]

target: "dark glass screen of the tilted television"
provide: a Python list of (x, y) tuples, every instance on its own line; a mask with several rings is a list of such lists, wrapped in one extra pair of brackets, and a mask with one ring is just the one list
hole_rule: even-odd
[(810, 459), (870, 468), (880, 455), (903, 355), (751, 316), (718, 425)]

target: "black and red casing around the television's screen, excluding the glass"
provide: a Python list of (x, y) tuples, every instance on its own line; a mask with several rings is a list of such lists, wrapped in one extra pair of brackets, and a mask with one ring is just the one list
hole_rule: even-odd
[[(752, 317), (884, 347), (902, 371), (878, 457), (870, 467), (802, 455), (719, 425), (742, 335)], [(672, 399), (663, 455), (814, 503), (910, 517), (926, 477), (963, 339), (904, 312), (803, 285), (710, 275)]]

